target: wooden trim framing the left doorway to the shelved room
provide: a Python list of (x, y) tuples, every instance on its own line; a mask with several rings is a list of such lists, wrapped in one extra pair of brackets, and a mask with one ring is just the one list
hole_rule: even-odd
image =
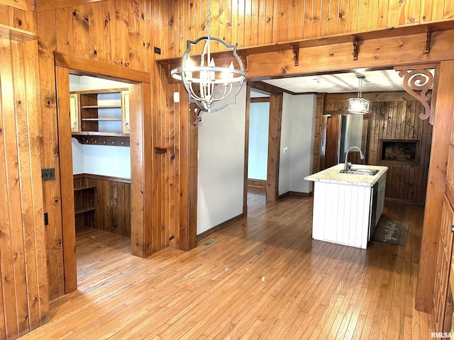
[[(62, 62), (65, 61), (65, 62)], [(83, 60), (83, 62), (82, 62)], [(80, 68), (80, 69), (78, 69)], [(118, 69), (121, 68), (121, 72)], [(151, 154), (149, 145), (150, 131), (150, 106), (144, 105), (144, 100), (150, 101), (150, 74), (137, 70), (126, 69), (116, 65), (106, 64), (80, 57), (63, 55), (55, 52), (55, 73), (57, 87), (58, 108), (58, 140), (60, 153), (60, 183), (67, 183), (60, 187), (62, 200), (62, 238), (63, 238), (63, 268), (65, 271), (65, 294), (77, 289), (77, 266), (75, 251), (74, 230), (74, 192), (72, 174), (72, 142), (70, 130), (69, 74), (84, 74), (94, 77), (103, 77), (119, 81), (127, 81), (132, 85), (130, 101), (131, 109), (131, 254), (148, 256), (148, 242), (150, 235), (145, 230), (145, 225), (150, 221), (150, 212), (145, 210), (145, 201), (149, 199), (150, 179), (153, 171), (149, 171), (150, 164), (145, 162), (145, 154)], [(138, 77), (138, 74), (141, 74)], [(124, 77), (124, 78), (122, 78)], [(138, 79), (142, 81), (138, 81)], [(146, 81), (143, 81), (145, 80)], [(146, 94), (144, 91), (147, 90)], [(66, 95), (67, 94), (67, 95)], [(135, 112), (135, 114), (133, 114)], [(145, 136), (146, 135), (146, 136)], [(147, 168), (148, 167), (148, 168)], [(145, 171), (145, 168), (148, 169)], [(132, 210), (131, 209), (131, 210)]]

